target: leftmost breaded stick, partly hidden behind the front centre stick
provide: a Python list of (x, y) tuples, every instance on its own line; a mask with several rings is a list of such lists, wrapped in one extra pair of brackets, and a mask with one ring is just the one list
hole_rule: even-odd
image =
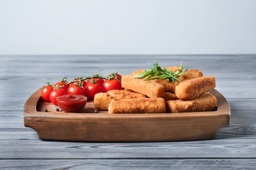
[(96, 93), (94, 104), (97, 110), (108, 110), (108, 105), (112, 99), (134, 99), (146, 98), (142, 93), (136, 93), (131, 90), (110, 90), (106, 93)]

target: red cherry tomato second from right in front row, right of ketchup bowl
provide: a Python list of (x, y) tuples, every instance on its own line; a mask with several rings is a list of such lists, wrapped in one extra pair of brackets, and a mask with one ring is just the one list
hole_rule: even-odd
[(86, 96), (89, 99), (94, 99), (96, 93), (103, 92), (102, 85), (99, 84), (98, 82), (87, 82), (87, 85), (85, 86), (85, 92)]

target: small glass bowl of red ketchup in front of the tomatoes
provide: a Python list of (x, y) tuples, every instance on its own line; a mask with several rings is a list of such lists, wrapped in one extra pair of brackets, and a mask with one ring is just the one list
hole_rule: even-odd
[(67, 94), (56, 98), (58, 107), (64, 112), (81, 112), (87, 102), (85, 95)]

